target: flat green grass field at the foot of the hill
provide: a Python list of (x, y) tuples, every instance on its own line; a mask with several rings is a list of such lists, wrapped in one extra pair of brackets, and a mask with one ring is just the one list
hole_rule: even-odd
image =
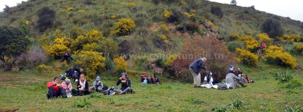
[[(57, 68), (58, 63), (46, 64), (47, 68), (40, 73), (37, 70), (23, 70), (19, 73), (0, 72), (0, 110), (2, 111), (211, 111), (213, 107), (224, 106), (230, 111), (282, 111), (286, 103), (302, 102), (302, 87), (295, 89), (279, 88), (275, 73), (284, 70), (280, 66), (260, 62), (258, 67), (238, 66), (245, 75), (256, 83), (248, 83), (245, 88), (229, 90), (193, 88), (192, 83), (181, 83), (173, 79), (158, 76), (163, 84), (144, 85), (140, 82), (140, 74), (130, 75), (132, 89), (135, 94), (104, 96), (89, 98), (73, 96), (71, 98), (46, 99), (46, 83), (54, 76), (63, 73)], [(132, 70), (130, 70), (132, 71)], [(134, 71), (132, 71), (134, 72)], [(302, 71), (289, 70), (294, 77), (302, 79)], [(107, 74), (102, 77), (103, 84), (115, 86), (118, 76)], [(90, 86), (92, 82), (89, 82)], [(72, 83), (76, 87), (76, 83)], [(120, 88), (121, 85), (118, 86)], [(245, 104), (241, 110), (231, 109), (231, 97), (239, 94)], [(75, 102), (88, 98), (92, 106), (78, 108)], [(191, 101), (194, 100), (198, 102)], [(203, 103), (201, 103), (204, 101)]]

